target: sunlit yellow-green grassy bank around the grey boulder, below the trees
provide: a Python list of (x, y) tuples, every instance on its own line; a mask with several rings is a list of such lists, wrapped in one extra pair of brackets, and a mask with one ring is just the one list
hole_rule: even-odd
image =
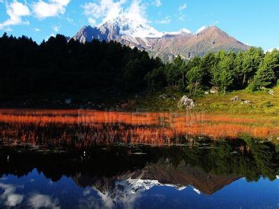
[[(246, 117), (253, 115), (277, 116), (279, 114), (279, 86), (273, 88), (273, 95), (269, 94), (270, 89), (263, 91), (250, 92), (247, 90), (232, 91), (225, 95), (209, 94), (203, 95), (200, 93), (193, 100), (196, 106), (193, 111), (206, 111), (222, 114), (249, 114)], [(167, 93), (172, 97), (167, 99), (159, 98), (159, 95)], [(152, 95), (146, 95), (143, 98), (136, 100), (138, 109), (149, 111), (177, 111), (179, 99), (183, 96), (178, 91), (158, 91)], [(239, 101), (232, 102), (232, 98), (238, 96)], [(176, 100), (174, 100), (176, 98)], [(248, 104), (243, 104), (243, 100), (249, 100)], [(185, 109), (179, 109), (185, 111)]]

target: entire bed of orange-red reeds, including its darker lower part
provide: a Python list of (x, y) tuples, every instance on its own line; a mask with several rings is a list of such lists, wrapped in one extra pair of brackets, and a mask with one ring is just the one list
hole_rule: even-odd
[(255, 126), (252, 120), (243, 124), (243, 118), (229, 119), (197, 114), (1, 110), (0, 141), (86, 147), (116, 142), (179, 144), (186, 137), (200, 136), (212, 139), (236, 139), (240, 134), (255, 138), (279, 136), (279, 127)]

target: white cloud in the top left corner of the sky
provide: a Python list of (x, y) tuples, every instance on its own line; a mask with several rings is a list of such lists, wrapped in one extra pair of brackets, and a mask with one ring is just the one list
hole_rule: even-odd
[(18, 2), (17, 0), (6, 4), (6, 13), (10, 18), (5, 22), (0, 23), (0, 29), (11, 25), (29, 24), (29, 22), (22, 21), (22, 17), (30, 15), (30, 10), (28, 6)]

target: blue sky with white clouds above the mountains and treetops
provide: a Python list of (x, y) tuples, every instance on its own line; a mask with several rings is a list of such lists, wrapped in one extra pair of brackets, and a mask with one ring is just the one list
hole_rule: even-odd
[(278, 0), (0, 0), (0, 33), (41, 42), (119, 14), (158, 31), (196, 32), (215, 24), (248, 45), (279, 47)]

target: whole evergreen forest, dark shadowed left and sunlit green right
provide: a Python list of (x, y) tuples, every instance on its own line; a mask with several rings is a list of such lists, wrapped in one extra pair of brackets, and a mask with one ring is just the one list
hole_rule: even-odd
[(0, 94), (84, 92), (123, 95), (166, 87), (197, 95), (216, 86), (226, 91), (272, 87), (279, 79), (279, 51), (250, 47), (246, 52), (210, 52), (172, 63), (118, 42), (82, 44), (56, 35), (40, 45), (6, 33), (0, 38)]

